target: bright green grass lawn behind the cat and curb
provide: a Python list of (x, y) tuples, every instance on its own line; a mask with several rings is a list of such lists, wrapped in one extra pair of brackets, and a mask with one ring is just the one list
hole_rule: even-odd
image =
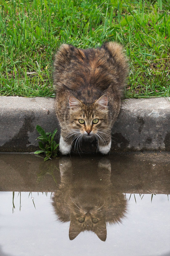
[(0, 95), (55, 97), (61, 43), (125, 46), (125, 97), (170, 96), (170, 1), (0, 0)]

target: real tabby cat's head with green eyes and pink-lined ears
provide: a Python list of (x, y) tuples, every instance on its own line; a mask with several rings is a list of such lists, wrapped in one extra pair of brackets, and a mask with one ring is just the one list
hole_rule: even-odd
[(75, 135), (80, 134), (83, 138), (102, 137), (102, 133), (109, 127), (107, 105), (107, 95), (86, 105), (70, 95), (70, 129)]

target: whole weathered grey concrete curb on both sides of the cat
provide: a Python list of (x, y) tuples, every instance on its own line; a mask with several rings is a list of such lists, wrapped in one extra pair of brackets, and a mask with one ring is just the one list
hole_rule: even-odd
[[(46, 132), (59, 129), (53, 98), (1, 96), (0, 109), (0, 152), (35, 151), (37, 124)], [(96, 151), (96, 145), (86, 144), (81, 150)], [(112, 129), (111, 152), (140, 150), (170, 151), (170, 98), (122, 101)]]

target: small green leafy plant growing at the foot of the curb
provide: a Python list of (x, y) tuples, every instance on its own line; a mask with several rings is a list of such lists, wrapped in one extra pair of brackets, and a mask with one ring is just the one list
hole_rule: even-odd
[(34, 152), (34, 154), (40, 154), (40, 153), (45, 153), (46, 157), (44, 158), (44, 161), (51, 159), (51, 157), (55, 158), (57, 157), (57, 151), (58, 151), (58, 145), (56, 141), (54, 140), (54, 136), (57, 132), (57, 128), (51, 132), (46, 132), (44, 129), (37, 125), (36, 126), (37, 132), (41, 135), (37, 139), (40, 140), (38, 142), (39, 148), (41, 150), (37, 150)]

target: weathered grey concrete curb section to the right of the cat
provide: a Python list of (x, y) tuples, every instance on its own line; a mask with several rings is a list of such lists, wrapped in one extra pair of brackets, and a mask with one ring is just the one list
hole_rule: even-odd
[(170, 98), (123, 101), (112, 132), (115, 149), (170, 151)]

